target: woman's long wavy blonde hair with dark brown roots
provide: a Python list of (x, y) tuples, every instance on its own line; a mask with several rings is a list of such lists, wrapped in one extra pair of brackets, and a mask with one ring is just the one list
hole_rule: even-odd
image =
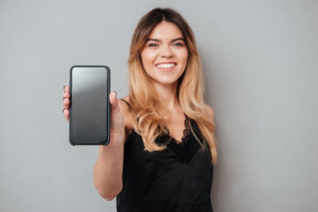
[[(142, 136), (145, 150), (149, 152), (162, 151), (167, 147), (158, 146), (155, 143), (156, 137), (166, 132), (163, 120), (165, 114), (162, 114), (160, 110), (163, 103), (151, 83), (151, 78), (145, 73), (141, 61), (141, 51), (151, 30), (162, 21), (171, 22), (178, 26), (185, 40), (188, 58), (185, 71), (178, 80), (178, 100), (185, 115), (196, 121), (203, 138), (209, 145), (212, 163), (215, 163), (215, 123), (208, 118), (208, 111), (204, 104), (203, 73), (194, 34), (182, 16), (169, 8), (151, 10), (142, 17), (133, 35), (128, 63), (130, 70), (129, 101), (133, 109), (134, 130)], [(192, 127), (190, 129), (194, 133)], [(201, 142), (198, 136), (195, 135), (195, 137), (204, 149), (205, 143)]]

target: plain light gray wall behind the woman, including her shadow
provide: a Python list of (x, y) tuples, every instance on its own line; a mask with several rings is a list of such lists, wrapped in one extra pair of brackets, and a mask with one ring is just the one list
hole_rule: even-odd
[(71, 146), (62, 87), (106, 64), (128, 94), (132, 33), (150, 9), (193, 28), (219, 160), (215, 211), (316, 211), (317, 1), (0, 1), (0, 211), (116, 211), (93, 185), (98, 147)]

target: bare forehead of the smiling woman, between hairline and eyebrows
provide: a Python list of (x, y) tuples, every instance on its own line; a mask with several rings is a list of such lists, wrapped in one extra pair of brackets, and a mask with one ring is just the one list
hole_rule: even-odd
[(149, 34), (151, 39), (175, 39), (183, 38), (182, 32), (177, 25), (171, 22), (162, 21), (155, 25)]

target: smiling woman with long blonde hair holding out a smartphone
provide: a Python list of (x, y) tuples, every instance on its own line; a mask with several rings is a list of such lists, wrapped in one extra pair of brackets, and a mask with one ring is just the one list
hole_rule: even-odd
[[(213, 111), (204, 103), (194, 34), (172, 9), (156, 8), (132, 39), (130, 95), (110, 93), (110, 144), (94, 183), (118, 211), (212, 211)], [(69, 86), (63, 92), (69, 120)]]

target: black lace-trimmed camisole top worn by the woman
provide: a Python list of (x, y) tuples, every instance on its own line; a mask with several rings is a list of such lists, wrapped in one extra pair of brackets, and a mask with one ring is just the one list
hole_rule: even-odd
[(203, 142), (194, 120), (186, 118), (182, 142), (169, 134), (157, 137), (164, 151), (144, 151), (134, 129), (124, 145), (122, 191), (116, 197), (118, 212), (211, 212), (213, 165), (206, 144), (202, 150), (189, 126)]

